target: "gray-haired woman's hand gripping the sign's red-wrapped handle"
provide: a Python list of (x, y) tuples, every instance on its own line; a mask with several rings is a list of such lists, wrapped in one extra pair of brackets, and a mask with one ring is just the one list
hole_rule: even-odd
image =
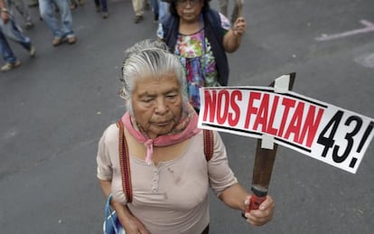
[[(249, 207), (250, 196), (247, 197), (244, 203)], [(258, 210), (246, 212), (247, 221), (253, 226), (262, 226), (266, 222), (273, 219), (275, 203), (270, 196), (266, 196), (266, 200), (261, 203)]]

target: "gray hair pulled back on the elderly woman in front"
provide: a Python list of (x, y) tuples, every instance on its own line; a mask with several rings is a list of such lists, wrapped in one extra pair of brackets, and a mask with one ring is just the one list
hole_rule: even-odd
[(131, 95), (135, 88), (136, 80), (151, 76), (159, 80), (168, 73), (174, 73), (181, 86), (183, 107), (188, 103), (186, 80), (182, 69), (182, 64), (178, 58), (168, 51), (164, 42), (146, 39), (137, 42), (126, 51), (124, 63), (122, 65), (122, 90), (121, 98), (126, 100), (126, 108), (133, 113)]

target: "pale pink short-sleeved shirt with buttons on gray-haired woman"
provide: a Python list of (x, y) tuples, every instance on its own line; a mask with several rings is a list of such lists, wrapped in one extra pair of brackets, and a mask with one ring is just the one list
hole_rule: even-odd
[[(131, 147), (131, 145), (129, 145)], [(98, 143), (98, 179), (112, 181), (116, 201), (126, 204), (118, 159), (118, 128), (108, 126)], [(238, 183), (229, 168), (226, 148), (214, 133), (210, 162), (203, 152), (202, 131), (192, 136), (182, 154), (147, 165), (130, 154), (133, 201), (128, 209), (151, 233), (201, 233), (209, 224), (209, 187), (217, 196)]]

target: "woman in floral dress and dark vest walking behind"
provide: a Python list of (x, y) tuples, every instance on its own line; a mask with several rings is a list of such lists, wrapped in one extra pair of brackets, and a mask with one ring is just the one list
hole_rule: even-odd
[(238, 50), (246, 22), (238, 17), (231, 29), (228, 18), (210, 9), (210, 0), (168, 0), (170, 15), (159, 23), (157, 37), (178, 55), (186, 73), (189, 100), (200, 107), (200, 87), (226, 86), (226, 52)]

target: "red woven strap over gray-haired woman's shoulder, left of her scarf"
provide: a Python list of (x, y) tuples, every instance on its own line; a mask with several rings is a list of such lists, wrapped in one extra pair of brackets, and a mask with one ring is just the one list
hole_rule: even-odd
[(122, 120), (118, 120), (117, 126), (119, 128), (118, 136), (118, 153), (119, 153), (119, 165), (121, 167), (122, 177), (122, 189), (127, 197), (127, 202), (133, 201), (133, 186), (131, 185), (131, 173), (130, 173), (130, 158), (128, 156), (128, 146), (126, 142), (126, 136), (124, 132), (124, 124)]

